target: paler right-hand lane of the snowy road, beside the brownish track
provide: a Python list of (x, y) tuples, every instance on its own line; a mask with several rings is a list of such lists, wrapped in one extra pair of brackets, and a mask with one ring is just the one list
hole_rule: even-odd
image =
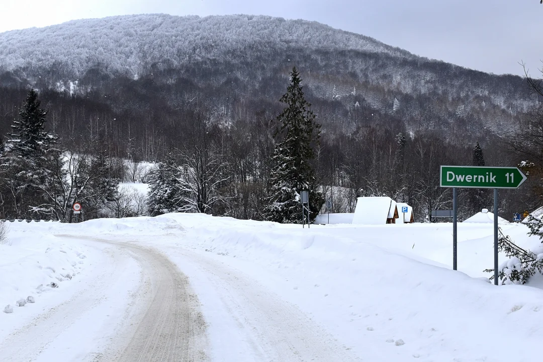
[(210, 357), (221, 362), (355, 362), (353, 355), (293, 304), (251, 276), (183, 247), (168, 252), (204, 295)]

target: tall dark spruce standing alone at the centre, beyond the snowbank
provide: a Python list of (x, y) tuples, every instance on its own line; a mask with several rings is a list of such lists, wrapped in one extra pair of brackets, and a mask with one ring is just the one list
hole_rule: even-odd
[(310, 194), (310, 220), (314, 220), (324, 202), (318, 190), (312, 161), (319, 142), (320, 125), (304, 98), (300, 74), (294, 67), (291, 84), (280, 101), (285, 109), (277, 116), (273, 169), (264, 217), (278, 223), (301, 223), (300, 191)]

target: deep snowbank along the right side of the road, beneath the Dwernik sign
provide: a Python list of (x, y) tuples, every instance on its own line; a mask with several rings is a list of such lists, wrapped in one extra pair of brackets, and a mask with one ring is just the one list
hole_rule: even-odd
[[(364, 359), (522, 361), (539, 355), (543, 291), (482, 280), (483, 269), (493, 266), (489, 225), (459, 225), (459, 265), (468, 276), (449, 269), (450, 224), (302, 230), (199, 214), (86, 224), (165, 251), (198, 281), (193, 287), (217, 339), (229, 333), (214, 322), (217, 295), (184, 250), (241, 272), (294, 304)], [(521, 244), (538, 245), (526, 231), (522, 225), (506, 230)], [(496, 348), (504, 338), (512, 347)]]

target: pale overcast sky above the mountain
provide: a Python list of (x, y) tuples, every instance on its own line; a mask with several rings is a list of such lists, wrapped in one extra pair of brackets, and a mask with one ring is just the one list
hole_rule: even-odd
[(80, 18), (166, 13), (302, 18), (485, 72), (543, 65), (538, 0), (0, 0), (0, 33)]

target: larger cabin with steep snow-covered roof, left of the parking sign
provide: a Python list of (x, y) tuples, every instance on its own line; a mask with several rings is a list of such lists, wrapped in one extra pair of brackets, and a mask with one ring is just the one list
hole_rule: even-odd
[(398, 218), (396, 201), (387, 197), (364, 197), (356, 201), (353, 224), (383, 225), (395, 224)]

